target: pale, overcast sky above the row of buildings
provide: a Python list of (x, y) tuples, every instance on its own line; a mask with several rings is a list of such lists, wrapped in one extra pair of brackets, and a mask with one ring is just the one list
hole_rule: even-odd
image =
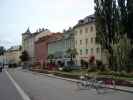
[(62, 32), (94, 13), (93, 0), (0, 0), (0, 46), (21, 44), (27, 28)]

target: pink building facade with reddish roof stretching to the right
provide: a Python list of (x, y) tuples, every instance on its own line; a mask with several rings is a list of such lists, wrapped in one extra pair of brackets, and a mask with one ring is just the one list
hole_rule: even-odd
[(50, 33), (49, 35), (43, 36), (35, 41), (35, 59), (39, 65), (39, 69), (47, 67), (48, 58), (48, 43), (57, 39), (60, 33)]

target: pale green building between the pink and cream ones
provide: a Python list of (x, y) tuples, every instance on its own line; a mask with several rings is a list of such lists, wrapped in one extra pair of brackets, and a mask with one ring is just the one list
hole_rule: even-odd
[(56, 33), (48, 41), (48, 55), (53, 55), (55, 62), (63, 62), (67, 66), (70, 62), (68, 49), (74, 49), (74, 33), (71, 28), (64, 30), (63, 33)]

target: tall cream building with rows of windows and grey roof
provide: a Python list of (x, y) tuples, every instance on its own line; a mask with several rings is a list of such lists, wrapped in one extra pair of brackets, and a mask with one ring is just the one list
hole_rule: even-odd
[(79, 20), (74, 26), (74, 41), (75, 48), (78, 51), (76, 57), (78, 64), (80, 64), (81, 59), (89, 61), (92, 56), (96, 60), (103, 60), (101, 46), (96, 43), (95, 21), (95, 16), (90, 15)]

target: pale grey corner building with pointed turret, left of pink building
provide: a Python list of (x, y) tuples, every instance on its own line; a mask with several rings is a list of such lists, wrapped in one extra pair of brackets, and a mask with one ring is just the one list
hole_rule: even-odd
[(35, 41), (39, 38), (43, 37), (46, 33), (48, 33), (48, 29), (39, 29), (34, 33), (31, 33), (29, 28), (25, 33), (22, 34), (22, 50), (27, 51), (29, 55), (29, 63), (33, 64), (36, 60), (35, 57)]

